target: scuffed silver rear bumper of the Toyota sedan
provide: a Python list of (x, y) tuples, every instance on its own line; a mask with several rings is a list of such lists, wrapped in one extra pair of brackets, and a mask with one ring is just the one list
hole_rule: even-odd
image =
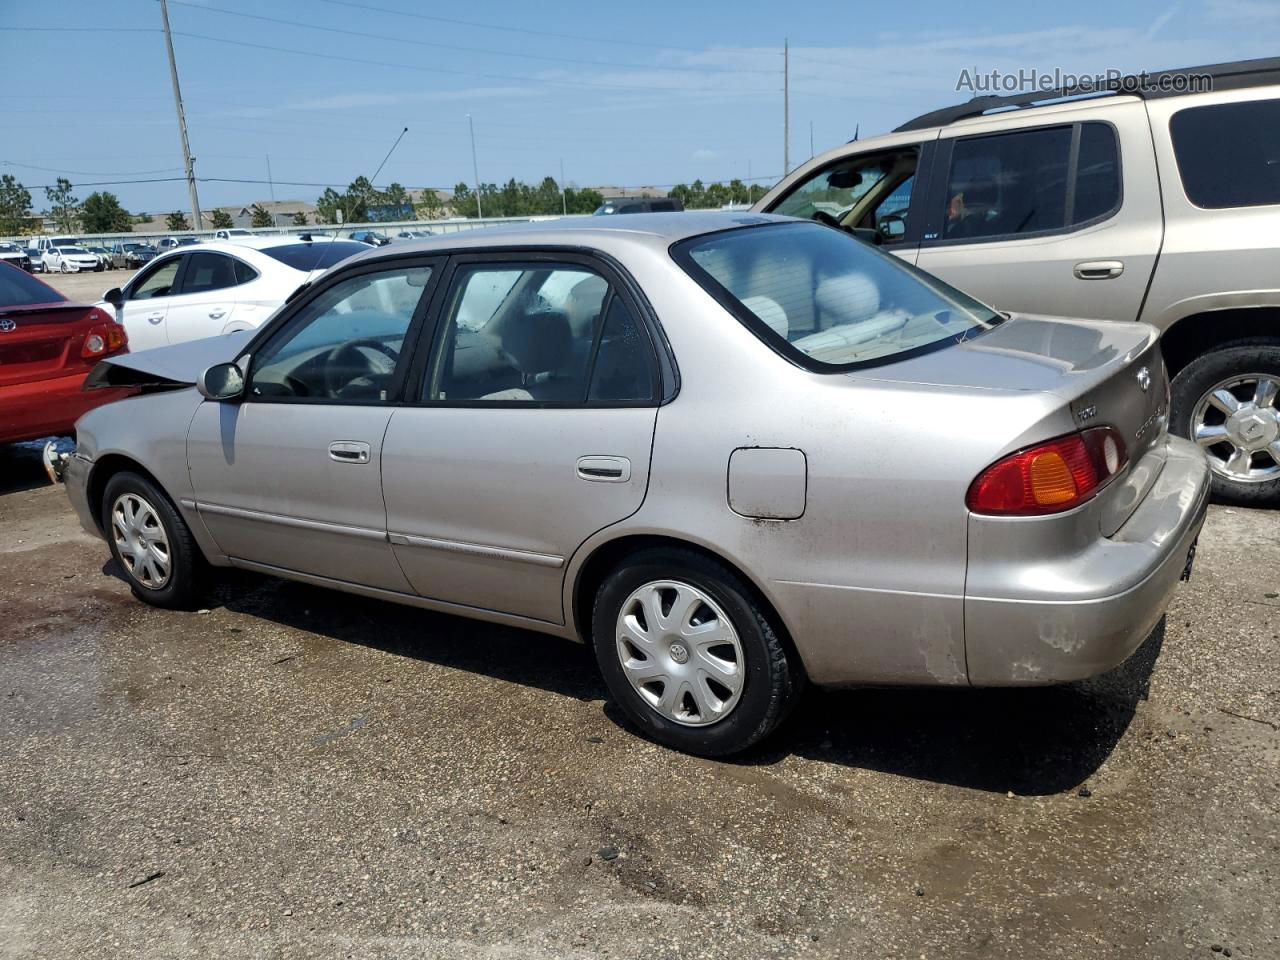
[[(1123, 663), (1151, 634), (1187, 568), (1210, 494), (1199, 448), (1175, 436), (1165, 444), (1165, 466), (1124, 526), (1110, 538), (1082, 541), (1062, 559), (1009, 563), (998, 577), (984, 577), (983, 563), (991, 558), (980, 553), (984, 544), (1000, 543), (1000, 534), (982, 530), (974, 536), (970, 527), (964, 602), (970, 684), (1082, 680)], [(1001, 566), (1000, 559), (993, 566)], [(992, 589), (997, 579), (1005, 589)]]

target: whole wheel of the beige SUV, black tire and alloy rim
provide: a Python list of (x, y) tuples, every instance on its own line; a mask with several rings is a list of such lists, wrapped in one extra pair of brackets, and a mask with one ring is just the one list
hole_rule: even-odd
[(1206, 353), (1174, 378), (1170, 393), (1170, 425), (1208, 456), (1215, 495), (1242, 506), (1280, 504), (1280, 347)]

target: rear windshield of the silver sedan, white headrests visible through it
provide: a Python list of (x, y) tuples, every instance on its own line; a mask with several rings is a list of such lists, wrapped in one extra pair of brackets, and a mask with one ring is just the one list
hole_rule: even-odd
[(704, 234), (672, 253), (758, 337), (810, 370), (904, 360), (1004, 319), (897, 257), (814, 223)]

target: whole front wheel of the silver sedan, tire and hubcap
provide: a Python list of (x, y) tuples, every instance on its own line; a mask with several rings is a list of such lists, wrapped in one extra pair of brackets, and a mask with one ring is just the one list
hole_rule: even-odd
[(188, 609), (200, 596), (204, 557), (186, 521), (145, 476), (120, 472), (102, 495), (102, 529), (133, 595)]

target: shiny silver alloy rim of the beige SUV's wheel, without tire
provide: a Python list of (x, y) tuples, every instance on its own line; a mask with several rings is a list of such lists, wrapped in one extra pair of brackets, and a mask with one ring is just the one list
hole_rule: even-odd
[(1192, 415), (1192, 436), (1216, 474), (1243, 483), (1280, 477), (1280, 378), (1245, 374), (1213, 387)]

